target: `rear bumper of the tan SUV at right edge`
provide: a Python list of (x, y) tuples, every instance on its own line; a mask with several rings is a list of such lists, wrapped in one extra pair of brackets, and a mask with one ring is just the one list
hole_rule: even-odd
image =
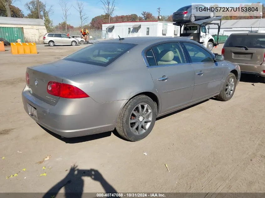
[(245, 63), (236, 63), (240, 66), (240, 70), (242, 74), (254, 74), (265, 77), (265, 63), (263, 62), (261, 65), (254, 64), (245, 64)]

